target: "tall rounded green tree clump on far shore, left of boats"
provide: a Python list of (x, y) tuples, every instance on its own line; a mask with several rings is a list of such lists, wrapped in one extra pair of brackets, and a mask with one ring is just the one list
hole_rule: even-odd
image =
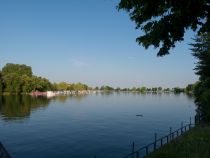
[(0, 90), (10, 94), (30, 93), (32, 91), (47, 91), (51, 83), (41, 77), (32, 76), (30, 66), (6, 64), (2, 68)]

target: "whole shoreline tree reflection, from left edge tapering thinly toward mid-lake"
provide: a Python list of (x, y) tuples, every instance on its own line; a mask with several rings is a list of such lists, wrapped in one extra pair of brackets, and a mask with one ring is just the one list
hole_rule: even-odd
[(32, 111), (39, 108), (47, 108), (51, 101), (58, 101), (60, 103), (65, 103), (69, 99), (81, 101), (86, 96), (57, 96), (53, 98), (30, 95), (0, 96), (0, 117), (6, 121), (21, 120), (28, 118)]

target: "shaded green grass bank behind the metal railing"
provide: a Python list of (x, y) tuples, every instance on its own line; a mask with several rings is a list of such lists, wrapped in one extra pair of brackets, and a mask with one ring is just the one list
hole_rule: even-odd
[(197, 125), (147, 158), (210, 158), (210, 126)]

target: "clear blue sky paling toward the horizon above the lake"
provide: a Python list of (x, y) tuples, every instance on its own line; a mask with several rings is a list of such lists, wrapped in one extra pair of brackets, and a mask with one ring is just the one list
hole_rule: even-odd
[(186, 33), (157, 57), (135, 39), (141, 31), (119, 0), (0, 0), (0, 67), (26, 64), (51, 82), (90, 86), (184, 87), (198, 80)]

